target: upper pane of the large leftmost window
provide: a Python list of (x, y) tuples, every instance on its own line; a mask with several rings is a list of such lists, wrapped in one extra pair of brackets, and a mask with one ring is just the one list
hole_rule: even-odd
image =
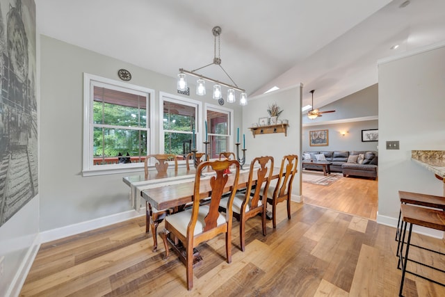
[(147, 98), (117, 90), (95, 87), (93, 122), (95, 124), (146, 127)]

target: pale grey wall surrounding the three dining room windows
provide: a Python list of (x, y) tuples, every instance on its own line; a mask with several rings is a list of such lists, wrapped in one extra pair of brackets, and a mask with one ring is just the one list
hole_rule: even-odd
[[(129, 70), (132, 74), (131, 84), (156, 91), (155, 112), (159, 111), (160, 91), (178, 95), (176, 80), (44, 35), (40, 42), (40, 231), (44, 232), (43, 240), (50, 237), (49, 232), (68, 236), (85, 231), (83, 229), (87, 225), (99, 227), (102, 223), (113, 223), (113, 220), (138, 215), (131, 209), (129, 187), (122, 182), (122, 177), (131, 174), (81, 175), (83, 72), (118, 80), (117, 72), (120, 68)], [(204, 101), (215, 104), (210, 90), (207, 93)], [(193, 86), (189, 98), (203, 101), (202, 97), (194, 95)], [(225, 106), (234, 109), (234, 125), (241, 127), (241, 106)], [(157, 152), (157, 112), (155, 122)], [(99, 223), (98, 219), (101, 218), (102, 223)]]

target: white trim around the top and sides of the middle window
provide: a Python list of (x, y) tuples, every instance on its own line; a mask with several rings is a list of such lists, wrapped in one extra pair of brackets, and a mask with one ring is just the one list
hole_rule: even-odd
[[(164, 114), (164, 100), (167, 100), (169, 102), (175, 102), (177, 104), (183, 104), (183, 105), (187, 105), (187, 106), (196, 106), (197, 108), (197, 115), (195, 118), (195, 127), (196, 127), (196, 149), (198, 151), (203, 152), (204, 151), (204, 143), (202, 143), (202, 135), (200, 133), (200, 131), (204, 131), (204, 128), (202, 129), (202, 127), (204, 127), (203, 125), (203, 120), (202, 120), (202, 102), (194, 100), (194, 99), (190, 99), (190, 98), (186, 98), (186, 97), (181, 97), (181, 96), (177, 96), (177, 95), (172, 95), (169, 93), (164, 93), (164, 92), (159, 92), (159, 154), (164, 154), (165, 150), (164, 150), (164, 124), (163, 124), (163, 114)], [(201, 143), (201, 148), (200, 146), (198, 146), (197, 144)], [(185, 163), (185, 162), (184, 162)]]

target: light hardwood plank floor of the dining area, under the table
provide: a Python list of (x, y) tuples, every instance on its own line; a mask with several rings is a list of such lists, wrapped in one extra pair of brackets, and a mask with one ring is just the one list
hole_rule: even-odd
[[(152, 252), (142, 216), (45, 243), (20, 296), (398, 295), (394, 228), (310, 204), (292, 202), (291, 209), (288, 220), (285, 203), (279, 204), (277, 228), (268, 221), (267, 236), (261, 218), (248, 220), (245, 252), (235, 222), (231, 264), (225, 262), (224, 236), (198, 247), (204, 262), (194, 270), (192, 291), (175, 254), (164, 260), (162, 244)], [(442, 240), (413, 237), (444, 251)], [(443, 257), (415, 253), (423, 262), (445, 266)], [(444, 287), (409, 274), (404, 290), (405, 296), (445, 296)]]

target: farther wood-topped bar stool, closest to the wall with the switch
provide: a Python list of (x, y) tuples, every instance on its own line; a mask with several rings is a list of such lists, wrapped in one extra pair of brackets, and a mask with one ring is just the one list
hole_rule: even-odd
[[(442, 209), (443, 211), (445, 211), (444, 196), (398, 191), (398, 197), (401, 200), (401, 204), (414, 204), (421, 207), (432, 207), (436, 209)], [(401, 213), (402, 213), (401, 211), (399, 211), (398, 213), (396, 241), (399, 241), (400, 237), (399, 227), (401, 226)], [(398, 249), (399, 246), (397, 246), (397, 256), (398, 256)]]

